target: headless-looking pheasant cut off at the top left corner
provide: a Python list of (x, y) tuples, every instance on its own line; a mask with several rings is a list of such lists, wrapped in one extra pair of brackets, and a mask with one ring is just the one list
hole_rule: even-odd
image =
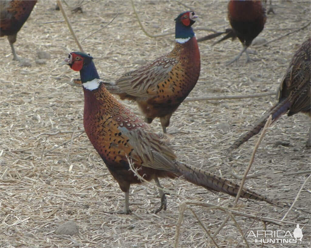
[(0, 36), (7, 35), (13, 53), (13, 60), (19, 60), (13, 43), (17, 32), (29, 17), (37, 1), (0, 1)]

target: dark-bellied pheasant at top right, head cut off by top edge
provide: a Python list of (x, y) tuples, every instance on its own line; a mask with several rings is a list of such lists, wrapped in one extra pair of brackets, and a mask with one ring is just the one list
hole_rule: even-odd
[(228, 3), (228, 19), (232, 28), (226, 29), (224, 32), (207, 35), (198, 39), (197, 42), (209, 40), (224, 33), (226, 33), (226, 35), (213, 45), (228, 38), (234, 40), (238, 37), (242, 42), (243, 49), (233, 60), (229, 61), (227, 65), (237, 61), (244, 52), (247, 56), (247, 62), (250, 62), (252, 59), (248, 55), (249, 52), (247, 48), (252, 44), (253, 39), (263, 30), (267, 20), (265, 12), (266, 10), (262, 6), (261, 1), (230, 0)]

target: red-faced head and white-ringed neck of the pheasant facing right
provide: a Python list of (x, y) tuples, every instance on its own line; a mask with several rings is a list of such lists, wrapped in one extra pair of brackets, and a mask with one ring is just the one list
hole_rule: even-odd
[(190, 40), (195, 34), (192, 29), (192, 24), (198, 16), (194, 11), (186, 11), (175, 19), (175, 41), (178, 43), (185, 43)]

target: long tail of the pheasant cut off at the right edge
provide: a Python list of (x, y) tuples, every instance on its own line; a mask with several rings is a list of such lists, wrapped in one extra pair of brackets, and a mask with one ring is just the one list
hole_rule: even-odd
[(270, 111), (262, 117), (256, 126), (253, 127), (250, 131), (247, 133), (241, 135), (229, 148), (230, 150), (238, 148), (240, 145), (242, 145), (244, 142), (248, 141), (248, 139), (252, 138), (254, 135), (258, 134), (260, 130), (265, 126), (267, 119), (270, 115), (272, 115), (272, 122), (276, 121), (282, 114), (286, 113), (288, 109), (290, 108), (290, 102), (285, 99), (281, 103), (278, 103), (274, 105)]

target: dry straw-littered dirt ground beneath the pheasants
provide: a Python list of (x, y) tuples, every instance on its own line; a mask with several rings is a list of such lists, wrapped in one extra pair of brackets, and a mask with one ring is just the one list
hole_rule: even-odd
[[(275, 15), (268, 15), (260, 38), (272, 41), (310, 21), (310, 1), (272, 4)], [(189, 8), (200, 16), (194, 28), (222, 31), (229, 27), (226, 5), (224, 1), (135, 1), (142, 24), (151, 34), (174, 32), (174, 18)], [(162, 185), (175, 193), (167, 197), (166, 211), (154, 214), (160, 204), (158, 191), (153, 184), (142, 184), (131, 186), (131, 215), (107, 213), (123, 210), (123, 193), (83, 132), (83, 92), (71, 82), (79, 73), (60, 65), (68, 52), (78, 48), (54, 6), (55, 1), (38, 1), (18, 33), (16, 52), (29, 59), (31, 67), (12, 61), (7, 38), (1, 38), (0, 247), (173, 247), (183, 199), (228, 207), (234, 197), (209, 192), (182, 178), (162, 179)], [(94, 1), (82, 8), (83, 13), (65, 10), (83, 49), (94, 57), (105, 80), (114, 81), (174, 46), (174, 35), (150, 38), (142, 32), (130, 1)], [(86, 38), (117, 12), (111, 24)], [(211, 32), (195, 33), (202, 37)], [(257, 51), (251, 56), (259, 61), (245, 63), (243, 55), (229, 66), (225, 62), (242, 47), (238, 40), (214, 47), (212, 41), (202, 42), (201, 74), (189, 97), (276, 91), (293, 53), (309, 37), (310, 25), (266, 46), (251, 47)], [(35, 62), (37, 51), (49, 53), (46, 64)], [(171, 146), (181, 161), (239, 183), (233, 175), (243, 176), (258, 135), (232, 154), (225, 149), (275, 102), (273, 95), (185, 102), (171, 118)], [(139, 113), (136, 104), (125, 104)], [(162, 131), (158, 119), (151, 126), (155, 132)], [(249, 172), (261, 174), (247, 179), (246, 187), (291, 204), (310, 175), (310, 149), (305, 148), (309, 128), (310, 118), (300, 113), (284, 115), (270, 127)], [(288, 209), (240, 199), (236, 210), (244, 214), (235, 219), (249, 246), (261, 246), (254, 237), (247, 237), (250, 231), (293, 233), (296, 224), (300, 228), (306, 224), (304, 244), (265, 246), (310, 247), (310, 192), (309, 180), (295, 203), (298, 210), (291, 210), (281, 226), (261, 218), (281, 223)], [(218, 209), (189, 206), (211, 234), (227, 217)], [(55, 232), (69, 220), (77, 224), (77, 234)], [(178, 241), (179, 247), (215, 246), (189, 209)], [(247, 246), (232, 219), (215, 241), (219, 247)]]

